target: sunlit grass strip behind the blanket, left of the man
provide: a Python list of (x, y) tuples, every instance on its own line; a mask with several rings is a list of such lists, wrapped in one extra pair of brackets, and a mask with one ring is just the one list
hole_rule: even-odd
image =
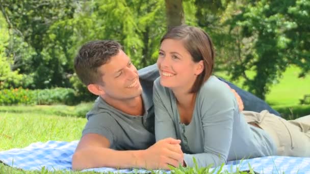
[(41, 113), (0, 112), (0, 151), (37, 141), (80, 139), (86, 119)]

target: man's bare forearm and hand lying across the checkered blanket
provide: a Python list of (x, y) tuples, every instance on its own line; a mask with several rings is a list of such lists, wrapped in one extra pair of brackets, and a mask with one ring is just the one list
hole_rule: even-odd
[[(179, 140), (166, 138), (146, 150), (116, 151), (110, 149), (108, 138), (99, 134), (84, 135), (72, 156), (72, 169), (82, 170), (96, 167), (169, 169), (183, 157)], [(182, 151), (181, 151), (182, 152)]]

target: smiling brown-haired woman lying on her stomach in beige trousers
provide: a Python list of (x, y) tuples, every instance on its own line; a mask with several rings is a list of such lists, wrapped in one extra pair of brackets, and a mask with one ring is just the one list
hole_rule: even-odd
[(187, 166), (193, 157), (200, 167), (270, 155), (310, 157), (310, 115), (286, 121), (268, 111), (239, 111), (234, 94), (212, 75), (214, 61), (212, 41), (200, 28), (177, 26), (162, 38), (153, 90), (156, 141), (180, 139)]

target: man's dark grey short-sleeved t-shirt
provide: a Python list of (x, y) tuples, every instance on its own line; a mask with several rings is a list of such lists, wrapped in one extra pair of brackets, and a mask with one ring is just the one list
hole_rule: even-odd
[(124, 113), (98, 97), (86, 114), (88, 122), (82, 136), (88, 133), (105, 136), (110, 141), (110, 148), (115, 150), (142, 150), (150, 147), (155, 142), (152, 88), (154, 79), (158, 77), (158, 72), (152, 72), (152, 69), (139, 70), (144, 115)]

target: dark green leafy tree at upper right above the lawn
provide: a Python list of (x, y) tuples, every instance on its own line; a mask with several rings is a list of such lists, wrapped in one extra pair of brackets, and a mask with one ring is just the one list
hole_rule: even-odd
[[(242, 54), (229, 69), (233, 79), (243, 76), (249, 91), (265, 99), (270, 85), (277, 82), (288, 65), (309, 71), (310, 25), (308, 1), (259, 1), (241, 8), (230, 21), (233, 31), (240, 29)], [(239, 43), (240, 44), (240, 43)], [(255, 71), (253, 78), (245, 70)]]

